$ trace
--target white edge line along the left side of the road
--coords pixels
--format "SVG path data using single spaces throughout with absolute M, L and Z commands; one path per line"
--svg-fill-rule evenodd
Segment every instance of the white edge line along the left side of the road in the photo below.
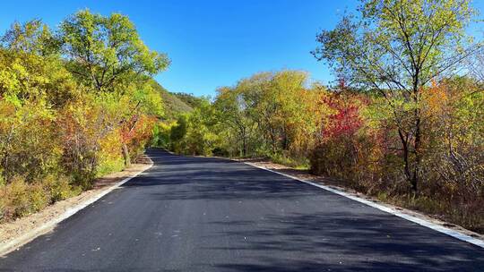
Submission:
M 115 183 L 114 185 L 112 185 L 108 189 L 99 192 L 99 194 L 93 196 L 91 199 L 85 200 L 84 202 L 74 206 L 73 208 L 66 209 L 65 212 L 61 216 L 56 217 L 55 219 L 52 219 L 51 221 L 48 221 L 46 224 L 41 225 L 38 228 L 35 228 L 35 229 L 31 230 L 30 232 L 28 232 L 26 234 L 22 234 L 20 237 L 15 238 L 10 242 L 6 242 L 6 243 L 0 245 L 0 257 L 4 256 L 4 255 L 6 255 L 6 254 L 8 254 L 12 251 L 19 249 L 20 247 L 22 247 L 26 243 L 31 242 L 32 240 L 34 240 L 35 238 L 39 237 L 42 234 L 47 234 L 49 231 L 54 229 L 56 227 L 56 225 L 59 224 L 60 222 L 64 221 L 65 219 L 67 219 L 69 217 L 72 217 L 78 211 L 82 210 L 82 208 L 88 207 L 92 203 L 96 202 L 100 198 L 107 195 L 109 192 L 116 190 L 117 188 L 119 188 L 119 186 L 123 185 L 124 183 L 129 182 L 131 179 L 135 178 L 139 174 L 142 174 L 144 171 L 150 169 L 151 166 L 153 166 L 152 162 L 151 162 L 150 166 L 148 168 L 144 169 L 143 171 L 139 171 L 136 174 L 134 174 L 133 176 L 127 177 L 124 180 L 122 180 L 118 183 Z

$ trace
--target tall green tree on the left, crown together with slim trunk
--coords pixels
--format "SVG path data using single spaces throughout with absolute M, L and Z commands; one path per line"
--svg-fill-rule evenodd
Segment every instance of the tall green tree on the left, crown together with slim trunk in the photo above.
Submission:
M 160 94 L 155 94 L 146 82 L 152 74 L 168 67 L 168 57 L 149 50 L 134 24 L 118 13 L 104 17 L 84 10 L 63 21 L 60 29 L 69 71 L 98 93 L 117 92 L 133 102 L 134 106 L 124 107 L 127 111 L 119 121 L 125 126 L 123 154 L 129 166 L 126 137 L 134 130 L 143 109 L 153 112 L 156 102 L 160 105 Z M 154 109 L 154 113 L 160 114 L 160 110 Z

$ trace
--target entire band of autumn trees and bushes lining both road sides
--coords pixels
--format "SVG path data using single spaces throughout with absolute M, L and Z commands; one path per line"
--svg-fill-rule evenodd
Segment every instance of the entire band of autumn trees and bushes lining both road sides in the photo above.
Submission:
M 0 38 L 0 220 L 119 171 L 146 145 L 268 157 L 484 231 L 482 43 L 468 0 L 366 0 L 317 35 L 307 72 L 259 72 L 215 98 L 169 93 L 169 65 L 121 14 L 74 13 Z M 471 57 L 470 57 L 471 56 Z

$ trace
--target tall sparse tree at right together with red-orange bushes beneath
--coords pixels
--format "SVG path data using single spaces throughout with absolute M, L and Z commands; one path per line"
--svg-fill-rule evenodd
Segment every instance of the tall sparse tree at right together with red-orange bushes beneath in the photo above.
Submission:
M 340 86 L 324 98 L 311 170 L 481 232 L 482 43 L 464 33 L 475 11 L 465 0 L 368 0 L 359 12 L 317 35 L 313 55 Z

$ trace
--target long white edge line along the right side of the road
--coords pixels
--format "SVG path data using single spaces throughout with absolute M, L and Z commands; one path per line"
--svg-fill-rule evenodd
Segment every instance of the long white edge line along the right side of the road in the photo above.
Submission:
M 378 208 L 380 210 L 383 210 L 389 214 L 392 214 L 393 216 L 397 216 L 397 217 L 402 217 L 403 219 L 407 219 L 413 223 L 417 223 L 419 225 L 423 225 L 423 226 L 426 226 L 430 229 L 433 229 L 439 233 L 442 233 L 442 234 L 447 234 L 449 236 L 452 236 L 456 239 L 459 239 L 461 241 L 464 241 L 464 242 L 470 242 L 471 244 L 474 244 L 474 245 L 477 245 L 481 248 L 484 249 L 484 241 L 480 240 L 480 239 L 477 239 L 477 238 L 474 238 L 474 237 L 471 237 L 467 234 L 462 234 L 458 231 L 455 231 L 453 229 L 450 229 L 450 228 L 447 228 L 443 225 L 436 225 L 432 222 L 428 222 L 427 220 L 424 220 L 424 219 L 421 219 L 419 217 L 413 217 L 411 215 L 406 215 L 394 208 L 388 208 L 388 207 L 385 207 L 383 205 L 379 205 L 375 202 L 372 202 L 372 201 L 369 201 L 369 200 L 364 200 L 364 199 L 361 199 L 359 197 L 356 197 L 356 196 L 353 196 L 353 195 L 350 195 L 344 191 L 339 191 L 339 190 L 336 190 L 336 189 L 333 189 L 331 187 L 328 187 L 328 186 L 325 186 L 325 185 L 322 185 L 322 184 L 318 184 L 318 183 L 312 183 L 312 182 L 309 182 L 309 181 L 305 181 L 305 180 L 301 180 L 295 176 L 292 176 L 290 174 L 283 174 L 283 173 L 280 173 L 280 172 L 277 172 L 277 171 L 273 171 L 271 169 L 267 169 L 267 168 L 264 168 L 262 166 L 255 166 L 251 163 L 247 163 L 247 162 L 244 162 L 244 164 L 248 165 L 248 166 L 254 166 L 256 168 L 259 168 L 259 169 L 263 169 L 263 170 L 266 170 L 266 171 L 269 171 L 269 172 L 272 172 L 272 173 L 275 173 L 275 174 L 281 174 L 283 176 L 286 176 L 286 177 L 289 177 L 291 179 L 294 179 L 294 180 L 297 180 L 298 182 L 301 182 L 301 183 L 307 183 L 309 185 L 313 185 L 313 186 L 316 186 L 316 187 L 319 187 L 321 189 L 324 189 L 326 191 L 331 191 L 333 193 L 336 193 L 338 195 L 341 195 L 343 197 L 346 197 L 346 198 L 349 198 L 350 200 L 355 200 L 355 201 L 358 201 L 360 203 L 363 203 L 363 204 L 366 204 L 367 206 L 370 206 L 370 207 L 373 207 L 373 208 Z

